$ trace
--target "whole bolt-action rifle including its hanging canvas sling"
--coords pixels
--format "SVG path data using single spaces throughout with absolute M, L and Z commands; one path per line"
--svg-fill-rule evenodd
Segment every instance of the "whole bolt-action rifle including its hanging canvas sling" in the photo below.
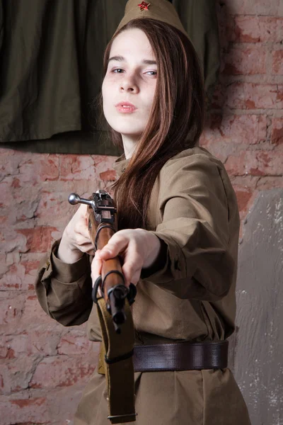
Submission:
M 93 249 L 103 249 L 117 231 L 117 210 L 110 195 L 99 190 L 90 199 L 71 193 L 69 203 L 88 205 L 88 230 Z M 98 288 L 102 297 L 98 297 Z M 102 334 L 104 373 L 108 389 L 108 409 L 111 424 L 136 420 L 134 409 L 134 324 L 130 306 L 137 289 L 125 278 L 119 256 L 103 261 L 101 276 L 93 286 L 92 299 L 97 305 Z M 114 326 L 113 326 L 114 325 Z M 121 325 L 123 334 L 121 334 Z M 121 391 L 121 385 L 123 391 Z

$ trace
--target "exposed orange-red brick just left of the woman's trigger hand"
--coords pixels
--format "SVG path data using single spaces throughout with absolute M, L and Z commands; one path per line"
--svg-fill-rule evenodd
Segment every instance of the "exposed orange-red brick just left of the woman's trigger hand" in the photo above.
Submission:
M 42 226 L 34 229 L 18 229 L 17 232 L 26 237 L 26 246 L 30 252 L 46 252 L 54 241 L 53 232 L 57 232 L 57 228 Z

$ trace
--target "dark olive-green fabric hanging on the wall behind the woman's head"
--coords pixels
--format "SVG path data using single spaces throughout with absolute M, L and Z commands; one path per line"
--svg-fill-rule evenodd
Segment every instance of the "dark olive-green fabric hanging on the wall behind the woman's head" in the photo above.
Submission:
M 103 52 L 124 16 L 126 3 L 2 0 L 0 142 L 4 147 L 30 152 L 121 153 L 110 142 L 98 95 Z M 175 0 L 173 5 L 200 56 L 209 93 L 219 70 L 215 3 Z

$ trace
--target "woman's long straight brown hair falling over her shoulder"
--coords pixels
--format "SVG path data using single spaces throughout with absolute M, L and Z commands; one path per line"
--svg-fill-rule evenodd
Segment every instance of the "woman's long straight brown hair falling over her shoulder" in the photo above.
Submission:
M 149 38 L 158 77 L 149 122 L 127 169 L 112 186 L 119 229 L 146 228 L 149 198 L 159 171 L 175 154 L 196 145 L 204 125 L 204 82 L 192 42 L 155 19 L 129 21 L 115 37 L 131 28 L 139 28 Z M 112 40 L 105 50 L 105 73 Z M 122 148 L 120 133 L 111 129 L 111 136 Z

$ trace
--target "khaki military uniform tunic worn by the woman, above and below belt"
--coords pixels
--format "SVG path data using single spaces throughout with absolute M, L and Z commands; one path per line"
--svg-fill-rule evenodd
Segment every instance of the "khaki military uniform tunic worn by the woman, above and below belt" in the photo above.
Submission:
M 122 174 L 129 160 L 114 164 Z M 143 269 L 133 305 L 137 344 L 172 340 L 219 341 L 234 329 L 239 213 L 224 165 L 202 147 L 185 149 L 164 164 L 149 204 L 149 228 L 166 245 Z M 100 341 L 91 301 L 90 261 L 56 257 L 54 244 L 40 266 L 36 290 L 51 317 L 69 326 L 88 320 L 88 338 Z M 159 261 L 159 263 L 158 263 Z M 135 373 L 137 425 L 250 424 L 229 368 Z M 94 373 L 75 425 L 108 424 L 105 378 Z

